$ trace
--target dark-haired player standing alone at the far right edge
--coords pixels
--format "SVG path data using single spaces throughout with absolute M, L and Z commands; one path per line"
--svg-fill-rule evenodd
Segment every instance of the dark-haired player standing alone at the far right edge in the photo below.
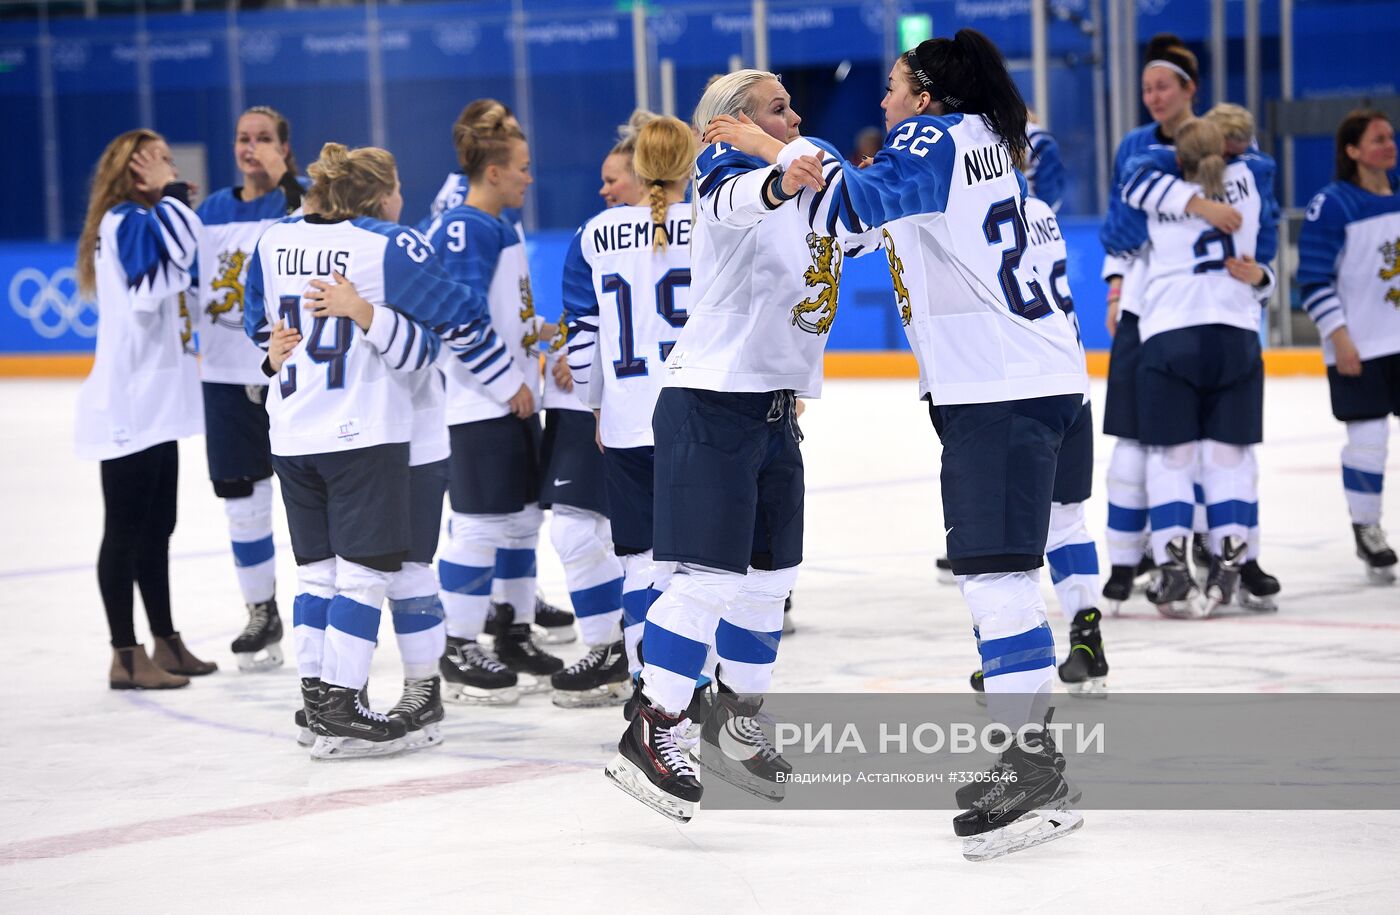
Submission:
M 1303 308 L 1327 360 L 1331 413 L 1347 425 L 1341 484 L 1369 581 L 1396 581 L 1380 529 L 1389 416 L 1400 414 L 1400 193 L 1394 127 L 1355 111 L 1337 127 L 1337 179 L 1312 203 L 1298 241 Z

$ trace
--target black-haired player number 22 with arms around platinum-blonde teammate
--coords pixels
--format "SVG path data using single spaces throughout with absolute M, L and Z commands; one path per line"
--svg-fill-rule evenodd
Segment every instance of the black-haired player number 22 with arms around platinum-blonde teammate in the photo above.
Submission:
M 995 45 L 973 29 L 923 42 L 895 63 L 882 108 L 890 132 L 875 161 L 864 171 L 827 162 L 825 186 L 804 190 L 795 206 L 809 225 L 841 236 L 883 229 L 902 264 L 902 318 L 944 444 L 948 554 L 979 634 L 988 708 L 1029 737 L 997 762 L 1012 778 L 953 821 L 965 856 L 983 859 L 1082 824 L 1065 810 L 1075 795 L 1043 726 L 1054 637 L 1039 567 L 1057 455 L 1088 376 L 1072 326 L 1022 266 L 1026 189 L 1016 165 L 1026 106 Z M 706 139 L 781 168 L 822 155 L 809 141 L 784 146 L 732 118 Z M 1029 830 L 1007 831 L 1032 813 Z

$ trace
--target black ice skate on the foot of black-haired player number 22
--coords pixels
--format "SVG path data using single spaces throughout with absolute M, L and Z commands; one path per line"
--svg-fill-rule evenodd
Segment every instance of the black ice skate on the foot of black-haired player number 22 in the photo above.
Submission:
M 1050 732 L 1025 729 L 1022 735 L 1001 751 L 969 809 L 953 818 L 967 860 L 1001 858 L 1084 825 L 1084 817 L 1068 809 L 1078 792 L 1064 776 L 1064 757 Z M 959 792 L 960 799 L 969 796 Z

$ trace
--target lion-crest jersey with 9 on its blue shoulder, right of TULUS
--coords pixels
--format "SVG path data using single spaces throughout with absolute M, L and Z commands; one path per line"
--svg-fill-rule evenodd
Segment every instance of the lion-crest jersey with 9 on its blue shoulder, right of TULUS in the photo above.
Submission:
M 447 423 L 459 425 L 494 420 L 510 413 L 505 402 L 529 385 L 535 406 L 540 403 L 539 329 L 535 295 L 529 284 L 529 260 L 519 234 L 504 218 L 476 207 L 459 206 L 433 224 L 428 239 L 447 273 L 475 290 L 482 290 L 490 309 L 491 326 L 503 344 L 486 355 L 486 362 L 500 378 L 514 378 L 510 390 L 491 392 L 480 375 L 449 364 L 447 371 Z M 504 393 L 504 396 L 500 396 Z

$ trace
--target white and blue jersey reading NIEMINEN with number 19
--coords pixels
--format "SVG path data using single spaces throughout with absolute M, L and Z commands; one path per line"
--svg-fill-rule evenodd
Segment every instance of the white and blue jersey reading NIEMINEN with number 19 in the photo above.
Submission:
M 601 409 L 605 448 L 652 445 L 662 367 L 690 306 L 689 203 L 666 210 L 665 250 L 652 252 L 651 207 L 613 207 L 584 224 L 564 257 L 568 367 Z

